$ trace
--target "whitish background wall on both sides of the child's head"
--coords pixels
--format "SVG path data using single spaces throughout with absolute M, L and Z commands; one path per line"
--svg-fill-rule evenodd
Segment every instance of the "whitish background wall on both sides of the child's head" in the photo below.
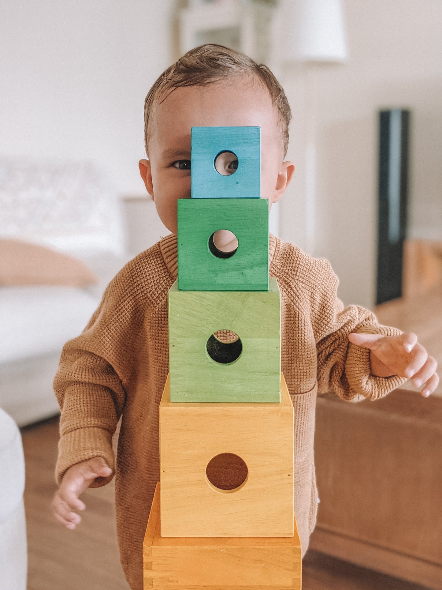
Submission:
M 143 101 L 173 60 L 173 6 L 1 2 L 0 154 L 91 159 L 121 194 L 142 194 Z M 345 11 L 350 60 L 318 74 L 315 254 L 331 261 L 346 303 L 370 306 L 381 107 L 412 110 L 410 228 L 442 234 L 442 1 L 345 0 Z M 304 247 L 305 72 L 286 67 L 281 77 L 297 167 L 281 235 Z

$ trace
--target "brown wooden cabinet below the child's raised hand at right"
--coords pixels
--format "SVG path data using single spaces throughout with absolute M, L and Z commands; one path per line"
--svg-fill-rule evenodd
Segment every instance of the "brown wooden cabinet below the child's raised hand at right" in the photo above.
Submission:
M 404 390 L 359 404 L 318 398 L 316 406 L 318 527 L 342 543 L 349 539 L 345 543 L 352 549 L 346 559 L 438 590 L 441 423 L 440 397 L 424 399 Z M 334 552 L 336 546 L 314 544 L 342 558 Z M 388 568 L 381 568 L 382 560 Z M 431 586 L 434 572 L 441 576 L 440 586 Z

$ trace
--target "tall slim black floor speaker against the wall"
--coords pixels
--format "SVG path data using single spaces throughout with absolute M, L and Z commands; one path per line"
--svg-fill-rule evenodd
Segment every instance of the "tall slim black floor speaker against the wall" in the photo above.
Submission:
M 402 295 L 402 256 L 407 227 L 410 112 L 379 113 L 379 213 L 376 303 Z

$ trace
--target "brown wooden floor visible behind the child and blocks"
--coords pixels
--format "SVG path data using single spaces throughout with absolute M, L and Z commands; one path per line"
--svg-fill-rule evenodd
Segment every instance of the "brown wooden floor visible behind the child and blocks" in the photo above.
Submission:
M 87 490 L 76 530 L 52 516 L 58 419 L 22 430 L 27 483 L 28 590 L 127 590 L 118 558 L 113 487 Z M 322 553 L 304 559 L 303 590 L 425 590 Z

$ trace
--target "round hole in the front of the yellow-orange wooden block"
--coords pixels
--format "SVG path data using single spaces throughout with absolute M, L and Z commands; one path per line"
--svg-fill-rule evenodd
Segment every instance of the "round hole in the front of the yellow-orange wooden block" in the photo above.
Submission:
M 235 491 L 247 481 L 249 470 L 245 461 L 235 453 L 220 453 L 207 463 L 206 478 L 221 491 Z

